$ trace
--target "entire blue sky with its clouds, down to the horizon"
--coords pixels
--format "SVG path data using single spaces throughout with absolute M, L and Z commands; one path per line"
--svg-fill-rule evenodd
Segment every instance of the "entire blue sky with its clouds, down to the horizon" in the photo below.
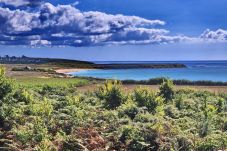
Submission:
M 0 55 L 227 60 L 226 0 L 0 0 Z

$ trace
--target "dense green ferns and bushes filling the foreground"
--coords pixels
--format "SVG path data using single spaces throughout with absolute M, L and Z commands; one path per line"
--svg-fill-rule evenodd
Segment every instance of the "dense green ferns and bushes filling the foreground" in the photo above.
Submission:
M 61 80 L 59 79 L 59 82 Z M 94 92 L 75 85 L 14 84 L 0 70 L 0 150 L 227 149 L 227 95 L 107 81 Z

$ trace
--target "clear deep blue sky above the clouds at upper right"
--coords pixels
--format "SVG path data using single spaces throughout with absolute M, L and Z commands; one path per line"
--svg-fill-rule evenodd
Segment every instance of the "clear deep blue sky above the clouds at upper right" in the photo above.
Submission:
M 54 4 L 73 3 L 74 0 L 50 0 Z M 160 19 L 173 33 L 200 35 L 205 29 L 227 27 L 226 0 L 81 0 L 77 6 L 83 11 L 136 15 Z

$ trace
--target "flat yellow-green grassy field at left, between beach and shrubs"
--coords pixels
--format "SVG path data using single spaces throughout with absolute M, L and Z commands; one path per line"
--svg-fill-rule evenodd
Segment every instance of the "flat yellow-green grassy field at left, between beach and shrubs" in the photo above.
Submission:
M 47 65 L 47 64 L 33 64 L 33 65 L 21 65 L 21 64 L 7 64 L 4 65 L 6 69 L 6 75 L 14 79 L 16 85 L 22 85 L 24 87 L 42 87 L 44 85 L 49 85 L 53 87 L 66 87 L 66 86 L 84 86 L 91 84 L 94 80 L 86 78 L 66 78 L 61 75 L 55 75 L 54 73 L 41 71 L 12 71 L 13 68 L 24 68 L 26 66 L 32 69 L 45 69 L 54 70 L 59 68 L 59 66 Z

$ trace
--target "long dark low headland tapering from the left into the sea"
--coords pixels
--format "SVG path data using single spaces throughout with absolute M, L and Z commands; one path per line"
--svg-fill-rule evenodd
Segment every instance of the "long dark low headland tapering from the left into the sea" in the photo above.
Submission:
M 185 68 L 184 64 L 95 64 L 88 61 L 78 61 L 58 58 L 33 57 L 0 57 L 0 64 L 36 64 L 55 66 L 58 68 L 86 68 L 86 69 L 136 69 L 136 68 Z

